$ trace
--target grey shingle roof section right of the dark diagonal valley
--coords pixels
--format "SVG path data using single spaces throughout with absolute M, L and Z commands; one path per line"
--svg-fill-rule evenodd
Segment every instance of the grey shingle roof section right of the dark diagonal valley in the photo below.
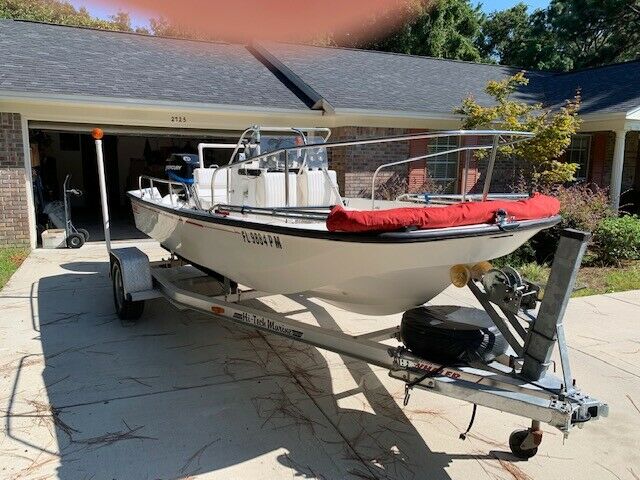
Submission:
M 487 81 L 517 72 L 496 65 L 365 50 L 265 47 L 337 109 L 450 114 L 469 94 L 488 103 L 483 92 Z

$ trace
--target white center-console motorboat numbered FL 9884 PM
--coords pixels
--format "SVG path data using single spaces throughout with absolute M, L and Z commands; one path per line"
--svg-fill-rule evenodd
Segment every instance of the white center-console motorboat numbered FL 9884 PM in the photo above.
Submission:
M 416 196 L 375 200 L 375 188 L 370 199 L 343 198 L 336 173 L 328 169 L 327 151 L 333 148 L 442 136 L 493 138 L 376 171 L 452 151 L 486 149 L 491 154 L 480 200 L 493 205 L 497 200 L 488 195 L 488 187 L 498 146 L 530 134 L 430 132 L 334 143 L 327 141 L 329 135 L 327 129 L 251 127 L 236 144 L 201 144 L 197 157 L 184 155 L 170 162 L 168 180 L 141 177 L 139 189 L 128 192 L 136 227 L 194 266 L 238 284 L 274 294 L 304 292 L 346 310 L 382 315 L 438 295 L 451 283 L 452 266 L 507 255 L 559 221 L 555 214 L 514 221 L 506 208 L 506 214 L 497 211 L 495 219 L 471 225 L 331 231 L 327 217 L 335 205 L 348 212 L 397 207 L 423 212 L 475 200 L 468 195 L 430 196 L 428 204 L 416 203 Z M 231 149 L 229 164 L 206 168 L 204 152 L 209 148 Z M 192 177 L 188 167 L 194 163 Z

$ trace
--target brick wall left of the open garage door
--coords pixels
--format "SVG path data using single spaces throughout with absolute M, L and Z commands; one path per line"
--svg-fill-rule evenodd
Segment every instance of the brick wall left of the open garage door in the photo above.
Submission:
M 29 244 L 22 123 L 0 112 L 0 246 Z

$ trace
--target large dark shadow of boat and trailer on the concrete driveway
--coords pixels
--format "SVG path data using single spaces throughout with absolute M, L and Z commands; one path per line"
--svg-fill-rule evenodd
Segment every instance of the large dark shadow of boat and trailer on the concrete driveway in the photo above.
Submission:
M 342 365 L 337 355 L 162 299 L 124 326 L 107 262 L 63 267 L 69 273 L 42 278 L 33 292 L 48 404 L 26 400 L 34 418 L 51 415 L 61 479 L 172 479 L 229 469 L 219 476 L 440 480 L 450 478 L 445 467 L 454 458 L 484 458 L 432 452 L 368 364 L 345 357 Z M 321 326 L 339 328 L 312 300 L 289 300 Z M 336 359 L 331 370 L 327 358 Z M 336 375 L 353 387 L 334 395 Z M 12 428 L 19 382 L 20 373 L 7 432 L 46 450 Z M 341 408 L 343 400 L 362 406 Z

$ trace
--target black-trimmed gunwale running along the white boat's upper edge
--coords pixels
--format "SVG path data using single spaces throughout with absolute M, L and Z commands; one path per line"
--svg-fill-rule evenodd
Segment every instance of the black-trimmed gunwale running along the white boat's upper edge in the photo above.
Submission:
M 501 228 L 497 224 L 477 224 L 460 227 L 448 227 L 438 229 L 423 229 L 394 232 L 330 232 L 328 230 L 314 230 L 308 228 L 296 228 L 295 226 L 274 225 L 271 223 L 253 222 L 251 220 L 236 219 L 227 215 L 220 215 L 212 212 L 201 212 L 197 210 L 186 210 L 161 205 L 156 202 L 145 200 L 132 192 L 127 192 L 127 196 L 132 202 L 139 202 L 152 209 L 159 209 L 162 212 L 170 213 L 178 217 L 186 217 L 192 220 L 200 220 L 205 223 L 226 225 L 247 230 L 263 231 L 271 234 L 288 235 L 295 237 L 315 238 L 318 240 L 331 240 L 338 242 L 356 243 L 416 243 L 433 242 L 439 240 L 450 240 L 454 238 L 467 237 L 494 237 L 511 235 L 523 230 L 540 230 L 549 228 L 560 222 L 560 215 L 545 217 L 536 220 L 523 220 L 509 225 L 509 228 Z M 456 229 L 456 230 L 454 230 Z

